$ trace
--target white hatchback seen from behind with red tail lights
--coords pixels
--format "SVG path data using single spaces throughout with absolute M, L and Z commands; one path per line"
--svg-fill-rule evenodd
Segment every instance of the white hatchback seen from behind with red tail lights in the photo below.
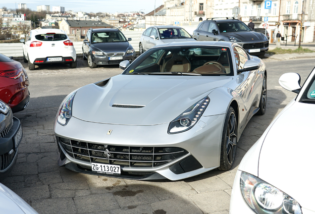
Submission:
M 77 67 L 73 43 L 62 30 L 31 30 L 20 42 L 24 44 L 23 59 L 30 70 L 34 70 L 36 64 L 49 63 L 70 63 L 71 68 Z

